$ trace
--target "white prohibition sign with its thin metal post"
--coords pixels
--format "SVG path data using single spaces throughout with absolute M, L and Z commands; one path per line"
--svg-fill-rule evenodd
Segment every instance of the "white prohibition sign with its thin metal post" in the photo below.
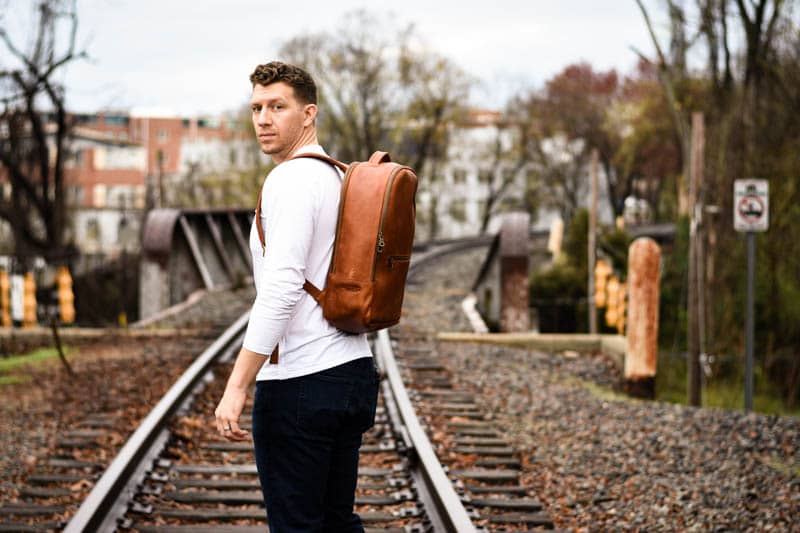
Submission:
M 756 233 L 769 228 L 769 182 L 735 180 L 733 184 L 733 227 L 747 234 L 747 299 L 745 309 L 744 409 L 753 409 L 753 344 L 755 336 Z

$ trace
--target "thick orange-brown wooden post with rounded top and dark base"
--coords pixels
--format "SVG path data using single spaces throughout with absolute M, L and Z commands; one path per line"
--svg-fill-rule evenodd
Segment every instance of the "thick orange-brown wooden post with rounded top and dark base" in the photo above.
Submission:
M 633 241 L 628 251 L 628 353 L 625 390 L 640 398 L 655 397 L 658 359 L 658 299 L 661 250 L 650 238 Z

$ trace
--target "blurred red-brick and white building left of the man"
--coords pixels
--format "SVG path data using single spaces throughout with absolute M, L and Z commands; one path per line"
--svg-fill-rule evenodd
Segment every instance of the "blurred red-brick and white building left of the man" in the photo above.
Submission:
M 66 201 L 84 253 L 138 250 L 148 194 L 151 205 L 175 205 L 175 184 L 249 168 L 257 156 L 250 136 L 224 118 L 109 111 L 72 118 Z

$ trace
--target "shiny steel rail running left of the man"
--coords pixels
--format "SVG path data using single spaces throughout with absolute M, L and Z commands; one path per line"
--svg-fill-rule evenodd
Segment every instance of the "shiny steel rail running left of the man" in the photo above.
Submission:
M 249 315 L 249 311 L 244 313 L 217 337 L 150 411 L 78 508 L 64 529 L 65 533 L 111 532 L 117 528 L 130 497 L 136 492 L 136 485 L 166 442 L 170 418 L 211 365 L 221 355 L 237 348 L 236 341 L 243 334 Z

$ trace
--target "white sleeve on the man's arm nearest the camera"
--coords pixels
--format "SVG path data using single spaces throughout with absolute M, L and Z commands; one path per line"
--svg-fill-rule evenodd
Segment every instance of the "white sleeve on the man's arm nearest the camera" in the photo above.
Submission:
M 275 349 L 304 294 L 318 211 L 317 188 L 310 179 L 315 167 L 313 161 L 283 163 L 264 185 L 261 223 L 266 252 L 260 272 L 255 273 L 256 299 L 243 346 L 265 356 Z

